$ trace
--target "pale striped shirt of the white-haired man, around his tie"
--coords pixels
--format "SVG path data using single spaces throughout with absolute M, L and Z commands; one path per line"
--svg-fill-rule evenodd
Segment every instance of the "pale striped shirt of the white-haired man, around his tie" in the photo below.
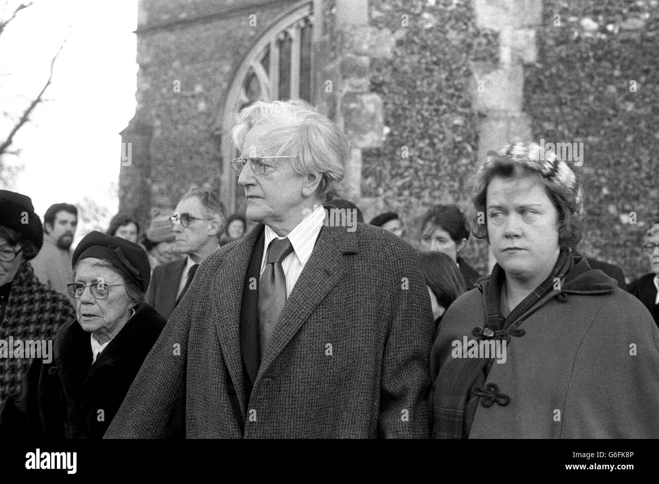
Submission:
M 325 221 L 325 209 L 322 205 L 316 207 L 312 213 L 304 217 L 302 221 L 291 230 L 291 233 L 287 235 L 288 239 L 291 241 L 293 246 L 293 252 L 284 257 L 281 261 L 281 268 L 284 271 L 284 276 L 286 277 L 286 297 L 291 295 L 293 286 L 295 282 L 300 277 L 304 265 L 311 257 L 311 252 L 314 250 L 314 245 L 316 245 L 316 238 L 320 233 L 320 229 L 323 226 Z M 261 274 L 266 269 L 266 257 L 268 255 L 268 246 L 274 238 L 285 238 L 279 237 L 277 232 L 270 229 L 266 225 L 265 232 L 265 246 L 263 250 L 263 258 L 261 259 Z

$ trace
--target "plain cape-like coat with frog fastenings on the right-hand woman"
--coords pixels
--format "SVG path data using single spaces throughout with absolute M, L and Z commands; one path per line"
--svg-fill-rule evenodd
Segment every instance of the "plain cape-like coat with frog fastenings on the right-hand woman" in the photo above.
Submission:
M 435 404 L 455 341 L 473 340 L 474 327 L 485 326 L 488 284 L 463 294 L 442 320 L 430 359 Z M 509 401 L 481 398 L 470 439 L 659 437 L 659 330 L 614 279 L 575 257 L 561 287 L 519 328 L 485 382 Z

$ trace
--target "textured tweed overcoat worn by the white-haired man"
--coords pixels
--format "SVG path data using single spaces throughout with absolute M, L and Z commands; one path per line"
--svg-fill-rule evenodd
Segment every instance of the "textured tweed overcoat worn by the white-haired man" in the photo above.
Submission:
M 428 437 L 418 257 L 363 223 L 323 228 L 246 396 L 241 301 L 263 230 L 200 265 L 105 437 Z

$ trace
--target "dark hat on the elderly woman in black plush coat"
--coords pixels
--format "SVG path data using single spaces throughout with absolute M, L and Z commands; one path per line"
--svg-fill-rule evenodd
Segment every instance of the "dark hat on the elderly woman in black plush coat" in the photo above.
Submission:
M 151 264 L 144 249 L 137 244 L 94 230 L 84 236 L 73 251 L 72 265 L 87 257 L 106 259 L 143 292 L 149 287 Z

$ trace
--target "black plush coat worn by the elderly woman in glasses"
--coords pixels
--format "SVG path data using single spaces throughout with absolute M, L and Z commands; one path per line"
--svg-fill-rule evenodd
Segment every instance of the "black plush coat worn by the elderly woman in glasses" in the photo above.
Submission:
M 50 363 L 33 360 L 22 394 L 0 412 L 0 439 L 100 439 L 119 410 L 165 319 L 148 304 L 135 314 L 92 363 L 90 333 L 73 319 L 55 335 Z

